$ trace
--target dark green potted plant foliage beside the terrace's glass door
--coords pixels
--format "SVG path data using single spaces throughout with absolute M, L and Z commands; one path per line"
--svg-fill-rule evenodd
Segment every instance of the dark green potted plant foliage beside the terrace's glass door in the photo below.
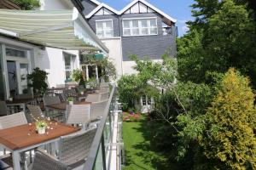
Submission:
M 37 95 L 44 95 L 48 88 L 46 71 L 41 71 L 38 67 L 33 69 L 32 74 L 27 75 L 27 79 L 32 83 L 29 83 L 28 86 L 33 88 L 33 93 Z

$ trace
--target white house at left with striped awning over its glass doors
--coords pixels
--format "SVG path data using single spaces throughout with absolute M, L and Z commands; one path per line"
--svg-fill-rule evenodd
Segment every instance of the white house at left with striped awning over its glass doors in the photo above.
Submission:
M 42 0 L 37 11 L 0 10 L 0 99 L 30 94 L 26 75 L 33 68 L 49 73 L 51 88 L 65 84 L 80 68 L 81 49 L 93 47 L 108 54 L 79 13 L 78 3 Z

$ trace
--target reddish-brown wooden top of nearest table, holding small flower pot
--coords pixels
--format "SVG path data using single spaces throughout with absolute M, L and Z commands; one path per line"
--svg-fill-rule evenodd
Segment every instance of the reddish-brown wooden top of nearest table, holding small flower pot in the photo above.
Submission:
M 38 134 L 34 123 L 0 130 L 0 144 L 5 145 L 10 150 L 19 150 L 80 130 L 78 127 L 67 126 L 60 122 L 48 122 L 48 126 L 53 129 L 47 129 L 46 132 L 48 133 L 45 134 Z

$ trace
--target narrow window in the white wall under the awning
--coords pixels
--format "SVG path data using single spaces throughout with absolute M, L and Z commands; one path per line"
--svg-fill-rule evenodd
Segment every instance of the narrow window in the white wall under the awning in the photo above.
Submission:
M 66 82 L 72 81 L 72 71 L 74 69 L 74 60 L 75 55 L 72 54 L 64 54 L 65 59 L 65 76 L 66 76 Z

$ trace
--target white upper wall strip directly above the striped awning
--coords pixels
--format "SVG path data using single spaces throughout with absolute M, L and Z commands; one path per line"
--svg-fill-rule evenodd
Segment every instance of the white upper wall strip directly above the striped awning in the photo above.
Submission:
M 72 3 L 67 0 L 40 0 L 40 10 L 72 9 Z

